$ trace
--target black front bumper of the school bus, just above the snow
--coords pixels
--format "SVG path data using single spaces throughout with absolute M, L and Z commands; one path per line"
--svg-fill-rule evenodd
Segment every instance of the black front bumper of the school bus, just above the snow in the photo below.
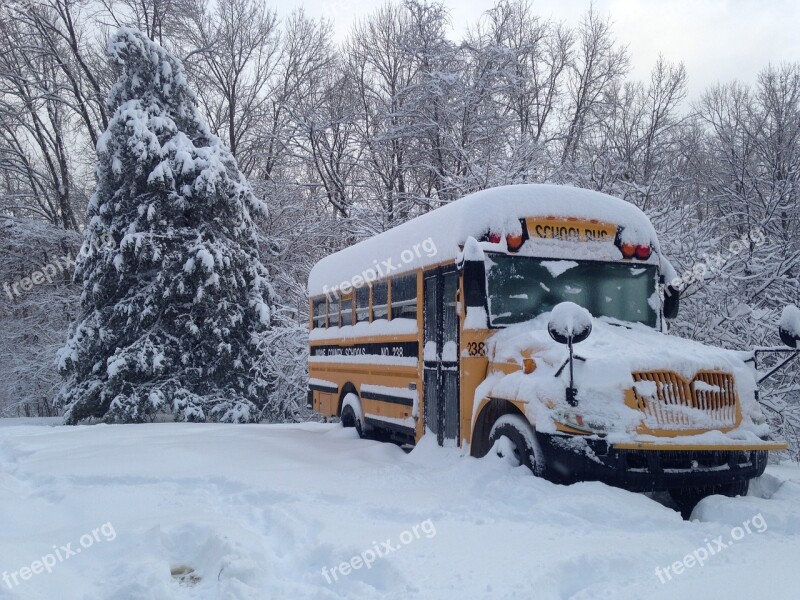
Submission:
M 761 446 L 704 449 L 657 444 L 612 445 L 602 439 L 536 432 L 544 476 L 556 483 L 601 481 L 635 492 L 724 485 L 760 476 Z M 758 449 L 756 449 L 758 448 Z

